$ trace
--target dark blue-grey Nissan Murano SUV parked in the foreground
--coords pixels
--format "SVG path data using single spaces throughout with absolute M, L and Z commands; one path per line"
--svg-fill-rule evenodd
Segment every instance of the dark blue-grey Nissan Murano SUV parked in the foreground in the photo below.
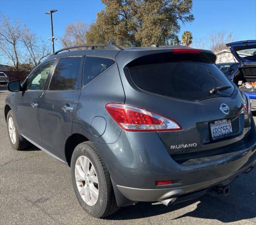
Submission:
M 215 60 L 185 46 L 57 51 L 8 83 L 10 145 L 32 143 L 71 166 L 75 195 L 96 218 L 227 195 L 256 163 L 256 126 L 249 98 Z

